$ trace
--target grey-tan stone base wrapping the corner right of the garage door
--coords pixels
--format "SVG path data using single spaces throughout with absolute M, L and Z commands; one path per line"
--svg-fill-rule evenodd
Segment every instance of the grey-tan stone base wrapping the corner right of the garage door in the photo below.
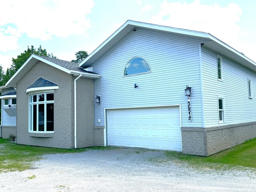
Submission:
M 256 138 L 256 122 L 209 128 L 182 127 L 182 153 L 209 156 Z

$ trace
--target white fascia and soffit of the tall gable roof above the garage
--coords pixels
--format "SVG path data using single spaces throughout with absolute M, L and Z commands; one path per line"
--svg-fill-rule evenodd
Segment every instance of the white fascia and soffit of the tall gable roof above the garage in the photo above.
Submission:
M 124 38 L 129 32 L 134 30 L 134 28 L 146 28 L 150 30 L 158 30 L 162 32 L 168 32 L 173 34 L 186 35 L 196 38 L 201 38 L 203 40 L 208 40 L 204 42 L 204 46 L 219 52 L 244 66 L 256 72 L 256 63 L 253 62 L 248 57 L 244 56 L 242 53 L 238 52 L 234 48 L 228 46 L 218 38 L 212 36 L 209 33 L 186 30 L 180 28 L 173 28 L 168 26 L 161 26 L 156 24 L 149 24 L 143 22 L 137 22 L 128 20 L 126 21 L 116 32 L 114 32 L 108 39 L 106 39 L 98 48 L 96 48 L 85 60 L 83 60 L 79 66 L 88 67 L 98 60 L 102 55 L 104 55 L 108 50 L 110 50 L 114 45 L 116 45 L 122 38 Z

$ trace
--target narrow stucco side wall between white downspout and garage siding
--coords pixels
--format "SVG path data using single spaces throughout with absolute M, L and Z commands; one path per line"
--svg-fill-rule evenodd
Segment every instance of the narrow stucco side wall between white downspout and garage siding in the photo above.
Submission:
M 77 77 L 74 77 L 77 78 Z M 77 148 L 94 145 L 94 80 L 80 78 L 76 82 Z

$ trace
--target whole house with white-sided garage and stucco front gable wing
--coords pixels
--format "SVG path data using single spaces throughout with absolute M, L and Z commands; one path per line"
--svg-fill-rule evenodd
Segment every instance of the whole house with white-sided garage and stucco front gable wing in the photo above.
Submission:
M 211 34 L 128 20 L 79 66 L 32 55 L 6 86 L 20 144 L 208 156 L 256 137 L 255 82 Z

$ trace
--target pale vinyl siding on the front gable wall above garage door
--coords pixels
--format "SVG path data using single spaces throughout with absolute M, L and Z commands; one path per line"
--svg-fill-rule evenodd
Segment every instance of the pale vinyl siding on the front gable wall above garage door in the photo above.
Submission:
M 202 126 L 199 44 L 203 40 L 142 28 L 131 31 L 93 64 L 95 125 L 104 125 L 104 108 L 181 104 L 182 126 Z M 133 57 L 144 58 L 151 73 L 123 77 Z M 134 84 L 138 88 L 134 88 Z M 188 121 L 186 85 L 192 87 L 192 122 Z M 98 123 L 100 119 L 100 123 Z

